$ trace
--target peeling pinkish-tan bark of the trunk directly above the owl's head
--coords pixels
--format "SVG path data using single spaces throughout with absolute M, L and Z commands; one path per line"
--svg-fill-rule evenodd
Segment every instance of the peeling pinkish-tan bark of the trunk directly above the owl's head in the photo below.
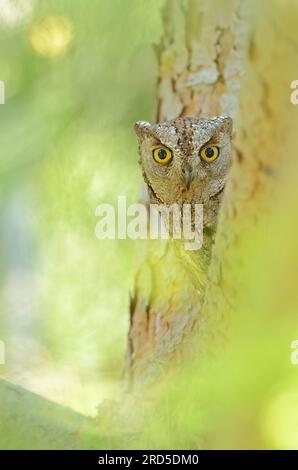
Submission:
M 248 21 L 244 2 L 168 2 L 157 48 L 157 121 L 236 116 Z

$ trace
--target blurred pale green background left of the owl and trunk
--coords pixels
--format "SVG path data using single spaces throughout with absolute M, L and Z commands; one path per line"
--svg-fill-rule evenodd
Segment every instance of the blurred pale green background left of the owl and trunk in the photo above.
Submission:
M 133 275 L 95 209 L 138 197 L 161 4 L 0 0 L 0 374 L 91 415 L 118 389 Z

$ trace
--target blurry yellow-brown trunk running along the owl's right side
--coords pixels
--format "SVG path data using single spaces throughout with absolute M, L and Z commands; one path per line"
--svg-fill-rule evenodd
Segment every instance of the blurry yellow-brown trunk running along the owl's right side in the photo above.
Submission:
M 251 34 L 236 120 L 235 155 L 225 190 L 200 319 L 201 353 L 230 335 L 250 259 L 241 246 L 274 211 L 290 168 L 297 125 L 290 83 L 297 76 L 295 2 L 252 2 Z M 294 60 L 296 58 L 296 60 Z M 294 156 L 293 156 L 294 157 Z M 289 175 L 287 175 L 289 177 Z M 288 181 L 290 184 L 290 181 Z M 263 227 L 264 230 L 264 227 Z M 243 300 L 243 299 L 242 299 Z

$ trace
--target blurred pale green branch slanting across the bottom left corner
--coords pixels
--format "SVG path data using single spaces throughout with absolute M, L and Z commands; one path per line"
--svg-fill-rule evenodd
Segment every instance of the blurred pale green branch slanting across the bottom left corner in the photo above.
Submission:
M 2 449 L 95 448 L 98 440 L 94 419 L 2 379 L 0 422 Z

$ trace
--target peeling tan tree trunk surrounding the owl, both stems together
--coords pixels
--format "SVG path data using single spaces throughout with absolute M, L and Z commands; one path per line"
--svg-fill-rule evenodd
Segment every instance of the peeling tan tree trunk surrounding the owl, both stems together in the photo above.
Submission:
M 294 69 L 295 41 L 291 46 L 282 25 L 279 33 L 276 26 L 289 12 L 278 2 L 259 3 L 250 2 L 249 12 L 241 0 L 165 5 L 164 37 L 156 48 L 157 121 L 229 115 L 235 150 L 212 250 L 205 246 L 195 258 L 166 242 L 148 241 L 144 249 L 125 370 L 133 390 L 154 381 L 170 361 L 191 356 L 197 344 L 199 352 L 213 349 L 228 334 L 241 279 L 235 241 L 268 203 L 291 116 L 281 109 L 294 75 L 287 83 L 282 71 Z

